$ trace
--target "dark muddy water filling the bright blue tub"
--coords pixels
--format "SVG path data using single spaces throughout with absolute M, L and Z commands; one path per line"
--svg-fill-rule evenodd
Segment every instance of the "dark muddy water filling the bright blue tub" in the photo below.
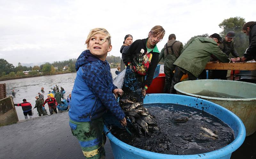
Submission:
M 133 135 L 113 126 L 111 133 L 119 140 L 144 150 L 188 155 L 214 151 L 234 140 L 233 130 L 217 117 L 202 110 L 178 104 L 144 104 L 154 117 L 159 132 L 151 137 Z M 177 117 L 188 117 L 187 122 L 176 122 Z

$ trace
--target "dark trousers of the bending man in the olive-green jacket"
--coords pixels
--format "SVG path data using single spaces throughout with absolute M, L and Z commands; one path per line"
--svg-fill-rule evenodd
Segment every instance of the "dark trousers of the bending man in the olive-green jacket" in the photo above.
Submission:
M 171 85 L 171 94 L 176 94 L 176 90 L 174 89 L 174 85 L 180 82 L 181 77 L 186 73 L 188 73 L 188 80 L 196 80 L 196 76 L 194 76 L 192 73 L 188 72 L 187 70 L 184 70 L 182 68 L 176 66 L 174 76 L 172 78 L 172 85 Z

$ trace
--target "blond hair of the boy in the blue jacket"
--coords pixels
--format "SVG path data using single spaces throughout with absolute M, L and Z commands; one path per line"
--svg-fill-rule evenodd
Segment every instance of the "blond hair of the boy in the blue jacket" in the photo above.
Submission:
M 87 44 L 87 47 L 89 47 L 89 41 L 90 41 L 91 37 L 94 36 L 95 34 L 104 34 L 104 35 L 106 35 L 106 37 L 104 38 L 104 40 L 100 44 L 102 44 L 103 42 L 106 42 L 106 40 L 108 40 L 108 46 L 111 45 L 111 36 L 108 33 L 108 31 L 104 28 L 96 27 L 96 28 L 90 30 L 90 33 L 87 36 L 87 39 L 85 41 L 85 44 Z

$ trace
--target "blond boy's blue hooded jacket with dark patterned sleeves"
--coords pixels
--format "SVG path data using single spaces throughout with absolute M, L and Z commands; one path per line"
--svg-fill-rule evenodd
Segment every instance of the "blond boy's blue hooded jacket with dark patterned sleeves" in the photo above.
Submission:
M 69 117 L 78 122 L 100 118 L 107 110 L 119 120 L 124 112 L 116 102 L 112 74 L 108 62 L 85 50 L 76 60 L 76 80 L 72 90 Z

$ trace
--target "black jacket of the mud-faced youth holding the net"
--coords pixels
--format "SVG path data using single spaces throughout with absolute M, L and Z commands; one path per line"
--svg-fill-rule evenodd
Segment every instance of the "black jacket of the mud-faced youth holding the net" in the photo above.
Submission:
M 124 64 L 128 65 L 128 63 L 132 63 L 134 57 L 137 58 L 137 56 L 140 54 L 140 50 L 144 49 L 147 50 L 146 43 L 147 39 L 139 39 L 133 42 L 126 50 L 125 52 L 122 53 L 122 59 Z M 153 50 L 150 52 L 152 53 L 152 59 L 151 63 L 149 64 L 148 72 L 147 72 L 147 78 L 144 81 L 143 85 L 148 85 L 150 86 L 153 77 L 154 77 L 154 72 L 156 70 L 156 66 L 158 64 L 158 57 L 159 57 L 159 51 L 158 52 L 153 52 Z M 140 76 L 140 75 L 138 75 Z

